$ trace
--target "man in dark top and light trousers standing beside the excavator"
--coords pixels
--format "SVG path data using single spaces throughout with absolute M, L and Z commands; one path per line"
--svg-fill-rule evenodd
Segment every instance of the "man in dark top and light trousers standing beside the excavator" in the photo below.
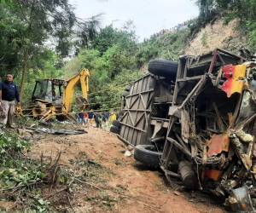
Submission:
M 0 83 L 0 104 L 5 115 L 5 118 L 0 118 L 0 123 L 10 128 L 14 128 L 15 100 L 18 103 L 20 102 L 19 91 L 14 83 L 14 76 L 7 74 L 6 80 Z

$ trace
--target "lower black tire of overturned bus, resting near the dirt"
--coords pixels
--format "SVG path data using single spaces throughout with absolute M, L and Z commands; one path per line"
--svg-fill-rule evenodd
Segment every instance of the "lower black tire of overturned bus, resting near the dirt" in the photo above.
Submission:
M 151 168 L 159 168 L 162 153 L 155 150 L 154 145 L 137 145 L 134 149 L 134 158 Z

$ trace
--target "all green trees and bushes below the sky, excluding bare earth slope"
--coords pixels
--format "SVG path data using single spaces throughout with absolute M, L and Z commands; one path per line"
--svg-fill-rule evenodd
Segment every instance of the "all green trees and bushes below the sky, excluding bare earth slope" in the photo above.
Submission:
M 200 9 L 197 19 L 187 21 L 180 29 L 162 31 L 139 43 L 131 22 L 122 29 L 113 26 L 99 29 L 99 16 L 79 20 L 68 0 L 1 1 L 0 76 L 7 72 L 15 74 L 22 100 L 26 102 L 36 78 L 68 78 L 81 67 L 86 67 L 91 72 L 90 102 L 106 102 L 118 100 L 125 86 L 116 85 L 143 75 L 148 60 L 177 60 L 191 37 L 220 16 L 226 21 L 240 20 L 241 33 L 247 36 L 245 47 L 256 49 L 255 1 L 196 2 Z M 77 56 L 64 63 L 63 59 L 71 50 Z M 109 87 L 116 90 L 106 92 L 106 97 L 102 98 L 101 93 L 96 94 Z M 115 106 L 112 103 L 94 108 Z

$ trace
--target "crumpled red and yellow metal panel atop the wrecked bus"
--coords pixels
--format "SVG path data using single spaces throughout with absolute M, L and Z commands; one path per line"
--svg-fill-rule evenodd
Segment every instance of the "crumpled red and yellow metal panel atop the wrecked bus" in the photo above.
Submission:
M 234 93 L 241 93 L 244 85 L 244 78 L 247 71 L 246 65 L 226 65 L 222 67 L 224 78 L 227 80 L 221 89 L 230 97 Z

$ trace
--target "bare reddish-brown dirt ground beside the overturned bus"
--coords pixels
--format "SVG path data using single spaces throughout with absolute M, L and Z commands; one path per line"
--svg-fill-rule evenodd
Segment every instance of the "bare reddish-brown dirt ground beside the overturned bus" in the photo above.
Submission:
M 84 158 L 100 165 L 96 170 L 87 167 L 83 179 L 87 181 L 80 181 L 82 187 L 75 185 L 68 199 L 71 208 L 66 211 L 224 212 L 206 194 L 171 187 L 160 170 L 148 170 L 132 156 L 125 157 L 125 150 L 116 135 L 90 127 L 84 135 L 39 135 L 31 156 L 39 158 L 43 153 L 50 157 L 61 151 L 61 167 L 79 171 L 79 176 L 85 170 L 81 164 Z M 88 175 L 90 172 L 94 175 Z

